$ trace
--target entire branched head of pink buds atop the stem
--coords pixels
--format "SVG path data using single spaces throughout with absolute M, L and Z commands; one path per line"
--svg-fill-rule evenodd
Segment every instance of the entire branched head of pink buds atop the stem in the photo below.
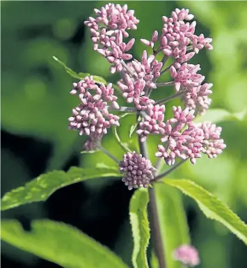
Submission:
M 212 123 L 193 123 L 197 114 L 209 109 L 212 84 L 198 73 L 200 65 L 188 61 L 205 48 L 213 49 L 211 38 L 196 35 L 196 22 L 188 9 L 176 8 L 170 17 L 162 17 L 161 33 L 154 31 L 151 40 L 141 39 L 152 48 L 148 55 L 143 51 L 141 59 L 134 58 L 131 49 L 134 38 L 129 39 L 129 30 L 136 30 L 138 19 L 127 5 L 106 4 L 95 9 L 95 17 L 89 17 L 85 25 L 90 29 L 93 48 L 111 63 L 111 73 L 119 72 L 118 86 L 127 105 L 119 107 L 112 84 L 97 84 L 93 77 L 85 77 L 73 84 L 72 94 L 79 96 L 80 104 L 72 110 L 69 127 L 79 134 L 88 135 L 84 148 L 95 150 L 102 136 L 111 126 L 118 126 L 119 117 L 111 111 L 132 111 L 141 116 L 136 133 L 144 143 L 149 135 L 160 135 L 156 157 L 164 158 L 173 165 L 177 159 L 190 159 L 192 164 L 202 154 L 217 157 L 225 148 L 221 139 L 221 127 Z M 157 60 L 157 54 L 163 57 Z M 169 63 L 166 66 L 166 63 Z M 171 81 L 159 82 L 165 72 L 170 72 Z M 174 95 L 161 100 L 152 98 L 152 91 L 159 87 L 173 86 Z M 166 102 L 180 97 L 184 106 L 173 107 L 173 118 L 165 120 Z M 140 143 L 140 145 L 141 145 Z M 155 169 L 145 155 L 127 152 L 119 164 L 125 173 L 122 180 L 129 189 L 148 187 L 154 179 Z

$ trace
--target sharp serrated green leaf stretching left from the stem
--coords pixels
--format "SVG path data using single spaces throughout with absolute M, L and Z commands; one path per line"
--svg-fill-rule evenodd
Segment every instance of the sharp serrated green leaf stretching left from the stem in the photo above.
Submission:
M 9 210 L 19 205 L 45 201 L 54 191 L 77 182 L 83 182 L 93 178 L 119 177 L 120 174 L 115 169 L 108 168 L 70 168 L 65 171 L 51 171 L 42 174 L 26 183 L 23 187 L 18 187 L 6 193 L 1 198 L 1 210 Z

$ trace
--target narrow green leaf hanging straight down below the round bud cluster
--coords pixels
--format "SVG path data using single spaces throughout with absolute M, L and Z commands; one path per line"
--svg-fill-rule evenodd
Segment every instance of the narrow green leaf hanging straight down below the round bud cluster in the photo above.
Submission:
M 134 268 L 148 268 L 146 255 L 150 239 L 147 212 L 148 201 L 148 189 L 142 188 L 136 190 L 130 200 L 129 217 L 134 239 L 134 249 L 132 253 L 132 263 Z

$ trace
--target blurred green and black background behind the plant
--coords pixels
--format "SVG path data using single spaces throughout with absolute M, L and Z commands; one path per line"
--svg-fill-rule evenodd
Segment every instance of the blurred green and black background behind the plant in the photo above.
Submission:
M 116 82 L 109 63 L 93 51 L 83 21 L 106 2 L 99 1 L 1 1 L 1 196 L 40 173 L 70 166 L 114 164 L 101 153 L 80 155 L 84 139 L 67 130 L 67 118 L 77 105 L 69 94 L 74 79 L 52 56 L 76 72 L 89 72 Z M 124 2 L 119 1 L 123 4 Z M 203 49 L 193 58 L 214 84 L 212 108 L 238 113 L 247 107 L 247 2 L 246 1 L 128 1 L 140 19 L 133 53 L 140 58 L 144 45 L 138 40 L 161 31 L 161 16 L 189 8 L 198 22 L 196 33 L 213 38 L 214 50 Z M 166 77 L 165 77 L 166 78 Z M 171 89 L 172 90 L 172 89 Z M 172 91 L 157 90 L 159 98 Z M 179 104 L 175 101 L 169 103 Z M 169 112 L 168 112 L 169 115 Z M 128 141 L 134 118 L 122 120 L 120 137 Z M 247 221 L 247 120 L 226 120 L 223 139 L 227 148 L 217 159 L 206 157 L 196 165 L 186 163 L 173 178 L 198 182 L 227 203 Z M 122 150 L 111 133 L 103 145 L 119 159 Z M 150 145 L 154 152 L 156 145 Z M 136 147 L 133 136 L 131 147 Z M 122 182 L 93 180 L 57 191 L 46 203 L 24 205 L 1 214 L 27 225 L 48 217 L 70 223 L 106 244 L 130 263 L 132 240 L 128 203 L 132 192 Z M 223 226 L 205 219 L 189 198 L 184 198 L 193 244 L 203 268 L 246 268 L 246 246 Z M 2 265 L 9 267 L 58 267 L 2 243 Z

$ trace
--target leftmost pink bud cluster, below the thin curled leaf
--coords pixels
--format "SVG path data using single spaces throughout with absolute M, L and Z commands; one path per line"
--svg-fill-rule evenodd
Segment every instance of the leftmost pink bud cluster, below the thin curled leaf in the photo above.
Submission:
M 90 139 L 101 139 L 111 125 L 119 126 L 118 116 L 109 113 L 106 107 L 107 102 L 110 102 L 113 107 L 119 108 L 112 84 L 101 84 L 99 87 L 93 77 L 85 77 L 79 83 L 73 84 L 70 93 L 78 94 L 81 102 L 72 110 L 70 129 L 79 131 L 79 135 L 86 134 Z

